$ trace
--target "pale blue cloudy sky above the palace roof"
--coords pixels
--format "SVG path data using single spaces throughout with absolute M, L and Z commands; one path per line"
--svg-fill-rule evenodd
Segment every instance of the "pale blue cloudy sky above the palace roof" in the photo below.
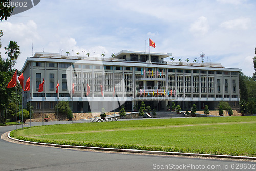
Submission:
M 175 61 L 193 62 L 203 52 L 204 62 L 252 76 L 255 9 L 253 0 L 41 0 L 0 22 L 0 52 L 6 58 L 4 47 L 16 41 L 20 70 L 27 57 L 43 50 L 110 57 L 121 50 L 148 51 L 150 38 L 156 44 L 152 52 L 172 53 Z

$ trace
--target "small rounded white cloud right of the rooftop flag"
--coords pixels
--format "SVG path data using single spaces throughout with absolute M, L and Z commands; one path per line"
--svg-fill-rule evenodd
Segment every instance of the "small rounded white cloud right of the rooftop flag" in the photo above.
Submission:
M 194 33 L 195 35 L 204 35 L 209 30 L 209 24 L 207 22 L 207 18 L 201 16 L 196 20 L 196 22 L 190 25 L 190 32 Z

